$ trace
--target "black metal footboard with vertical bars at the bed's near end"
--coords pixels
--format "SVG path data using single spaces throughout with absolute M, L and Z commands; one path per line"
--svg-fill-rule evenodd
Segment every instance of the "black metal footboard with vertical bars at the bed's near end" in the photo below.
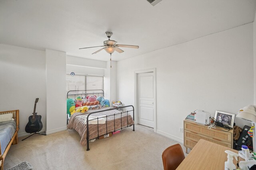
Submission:
M 121 111 L 120 113 L 116 113 L 116 114 L 114 114 L 114 115 L 106 115 L 106 116 L 104 116 L 104 117 L 106 117 L 106 134 L 104 134 L 104 135 L 108 135 L 108 117 L 110 117 L 110 116 L 114 116 L 114 132 L 115 131 L 118 131 L 118 130 L 122 130 L 122 129 L 124 129 L 124 128 L 126 128 L 126 127 L 130 127 L 130 126 L 132 126 L 132 125 L 129 125 L 128 124 L 128 113 L 130 112 L 130 111 L 132 111 L 132 113 L 133 113 L 133 120 L 134 120 L 134 107 L 132 106 L 132 105 L 129 105 L 129 106 L 123 106 L 123 107 L 118 107 L 118 108 L 112 108 L 112 109 L 107 109 L 107 110 L 100 110 L 100 111 L 94 111 L 94 112 L 92 112 L 92 113 L 89 113 L 88 115 L 87 115 L 87 119 L 86 119 L 86 127 L 87 127 L 87 130 L 86 130 L 86 132 L 87 132 L 87 136 L 86 136 L 86 140 L 87 140 L 87 151 L 88 150 L 90 150 L 89 149 L 89 141 L 91 141 L 91 140 L 93 140 L 93 139 L 96 139 L 96 138 L 98 138 L 98 137 L 100 137 L 99 136 L 99 118 L 97 117 L 97 118 L 95 118 L 95 119 L 91 119 L 91 120 L 88 120 L 89 119 L 89 116 L 90 115 L 92 115 L 92 114 L 94 114 L 94 113 L 100 113 L 100 112 L 104 112 L 104 111 L 109 111 L 109 110 L 117 110 L 117 109 L 120 109 L 120 108 L 126 108 L 126 107 L 132 107 L 132 110 L 129 110 L 129 111 Z M 126 116 L 127 116 L 127 126 L 122 126 L 122 114 L 123 113 L 125 113 L 126 114 Z M 120 116 L 120 119 L 121 119 L 121 128 L 119 128 L 119 129 L 116 129 L 116 123 L 115 123 L 115 116 L 116 115 L 119 115 L 119 114 L 121 114 L 121 116 Z M 102 117 L 100 117 L 100 118 L 102 118 Z M 93 139 L 89 139 L 89 121 L 92 121 L 92 120 L 97 120 L 97 128 L 98 128 L 98 137 L 96 137 L 96 138 L 93 138 Z M 133 130 L 132 131 L 135 131 L 135 129 L 134 129 L 134 124 L 133 124 Z M 102 136 L 102 135 L 101 135 Z

